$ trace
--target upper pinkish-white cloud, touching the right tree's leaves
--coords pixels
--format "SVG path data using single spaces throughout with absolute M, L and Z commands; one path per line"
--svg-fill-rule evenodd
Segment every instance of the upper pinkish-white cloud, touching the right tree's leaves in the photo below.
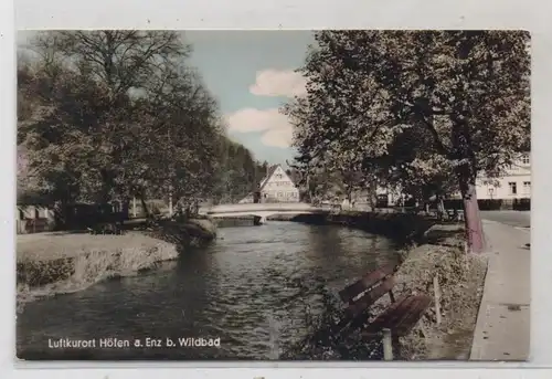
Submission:
M 250 92 L 257 96 L 294 97 L 305 95 L 307 81 L 294 71 L 264 70 L 257 72 L 255 84 Z

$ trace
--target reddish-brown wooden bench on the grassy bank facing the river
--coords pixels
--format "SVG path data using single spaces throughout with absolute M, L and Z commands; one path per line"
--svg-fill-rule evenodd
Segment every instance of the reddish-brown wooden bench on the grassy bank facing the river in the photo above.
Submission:
M 399 339 L 411 331 L 432 303 L 429 296 L 411 293 L 396 299 L 393 286 L 397 269 L 395 264 L 385 265 L 339 292 L 346 317 L 337 324 L 335 331 L 343 334 L 360 329 L 365 343 L 382 339 L 385 360 L 392 360 L 393 355 L 400 356 Z M 385 294 L 389 295 L 389 306 L 381 314 L 371 315 L 371 307 Z

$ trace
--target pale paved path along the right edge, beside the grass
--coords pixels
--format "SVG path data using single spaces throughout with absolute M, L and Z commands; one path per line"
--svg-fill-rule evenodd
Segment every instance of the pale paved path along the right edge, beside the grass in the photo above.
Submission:
M 484 220 L 484 229 L 489 266 L 470 360 L 527 360 L 530 250 L 526 244 L 530 231 L 490 220 Z

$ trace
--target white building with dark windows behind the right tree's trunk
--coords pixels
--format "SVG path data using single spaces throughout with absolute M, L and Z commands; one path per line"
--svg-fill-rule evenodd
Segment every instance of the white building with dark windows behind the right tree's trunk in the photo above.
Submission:
M 523 154 L 500 178 L 481 176 L 477 181 L 478 199 L 530 199 L 531 198 L 531 158 Z

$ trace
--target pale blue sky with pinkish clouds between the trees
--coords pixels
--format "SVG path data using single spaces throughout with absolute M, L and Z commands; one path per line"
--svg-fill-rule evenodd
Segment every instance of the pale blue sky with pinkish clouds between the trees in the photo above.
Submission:
M 20 32 L 19 44 L 32 32 Z M 257 160 L 293 159 L 293 127 L 278 108 L 305 93 L 296 73 L 305 61 L 310 31 L 188 31 L 193 46 L 189 63 L 197 67 L 217 99 L 229 136 Z

